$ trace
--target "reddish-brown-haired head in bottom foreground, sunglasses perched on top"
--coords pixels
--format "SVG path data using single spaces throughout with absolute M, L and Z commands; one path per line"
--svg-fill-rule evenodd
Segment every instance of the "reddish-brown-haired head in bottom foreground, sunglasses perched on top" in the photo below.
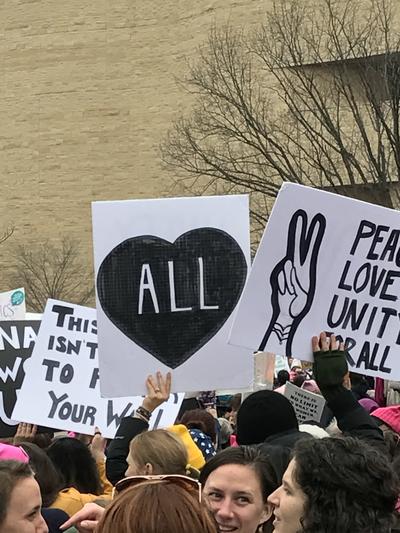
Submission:
M 217 533 L 217 527 L 199 501 L 195 489 L 178 481 L 143 481 L 114 499 L 97 533 Z

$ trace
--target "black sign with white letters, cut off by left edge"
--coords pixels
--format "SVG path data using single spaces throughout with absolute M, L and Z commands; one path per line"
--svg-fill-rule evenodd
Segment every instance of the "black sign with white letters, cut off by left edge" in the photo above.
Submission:
M 15 434 L 12 415 L 40 321 L 0 322 L 0 437 Z

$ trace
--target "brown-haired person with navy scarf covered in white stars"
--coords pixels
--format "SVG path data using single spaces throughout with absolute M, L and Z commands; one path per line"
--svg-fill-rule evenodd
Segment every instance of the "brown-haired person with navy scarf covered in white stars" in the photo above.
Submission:
M 218 423 L 216 418 L 204 409 L 193 409 L 183 414 L 180 423 L 188 428 L 206 461 L 215 455 Z

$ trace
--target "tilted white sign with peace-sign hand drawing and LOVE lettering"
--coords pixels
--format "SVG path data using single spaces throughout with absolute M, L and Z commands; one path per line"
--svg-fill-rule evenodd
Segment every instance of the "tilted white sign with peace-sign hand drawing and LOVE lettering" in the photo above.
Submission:
M 400 379 L 400 213 L 282 186 L 230 342 L 312 360 L 311 337 L 340 335 L 353 372 Z

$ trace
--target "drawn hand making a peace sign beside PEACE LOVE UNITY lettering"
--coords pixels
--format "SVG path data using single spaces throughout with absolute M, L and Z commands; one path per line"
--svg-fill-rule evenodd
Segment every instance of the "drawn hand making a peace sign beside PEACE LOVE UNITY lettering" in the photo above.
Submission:
M 310 223 L 302 209 L 292 216 L 286 255 L 270 276 L 272 317 L 260 344 L 261 351 L 271 334 L 275 333 L 281 344 L 286 341 L 286 355 L 292 355 L 293 337 L 314 299 L 318 253 L 325 228 L 326 219 L 321 213 L 315 215 Z

